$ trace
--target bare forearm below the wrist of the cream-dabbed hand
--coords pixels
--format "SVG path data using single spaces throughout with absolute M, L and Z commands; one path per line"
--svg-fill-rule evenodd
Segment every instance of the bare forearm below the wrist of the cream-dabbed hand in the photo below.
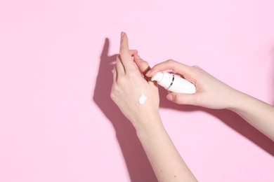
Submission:
M 149 119 L 136 131 L 158 181 L 197 181 L 176 150 L 159 116 Z

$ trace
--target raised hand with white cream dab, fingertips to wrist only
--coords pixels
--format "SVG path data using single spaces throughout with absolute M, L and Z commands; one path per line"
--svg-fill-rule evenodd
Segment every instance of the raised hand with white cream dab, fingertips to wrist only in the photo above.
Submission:
M 110 96 L 136 129 L 153 115 L 159 115 L 157 85 L 144 76 L 149 69 L 148 62 L 137 55 L 137 50 L 129 50 L 128 38 L 122 32 Z M 141 94 L 148 98 L 144 104 L 138 103 Z

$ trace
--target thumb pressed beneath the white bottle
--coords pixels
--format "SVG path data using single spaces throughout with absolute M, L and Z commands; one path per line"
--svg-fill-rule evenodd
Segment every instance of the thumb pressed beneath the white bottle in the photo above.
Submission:
M 195 94 L 176 94 L 173 92 L 169 92 L 169 94 L 167 94 L 167 99 L 177 104 L 196 105 L 195 96 Z

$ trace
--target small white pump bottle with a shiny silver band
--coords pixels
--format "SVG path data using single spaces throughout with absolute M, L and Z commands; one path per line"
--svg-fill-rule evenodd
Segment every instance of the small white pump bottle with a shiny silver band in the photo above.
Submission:
M 155 76 L 152 76 L 151 80 L 156 80 L 158 85 L 161 85 L 170 92 L 178 94 L 194 94 L 196 92 L 196 87 L 193 83 L 171 73 L 158 72 Z

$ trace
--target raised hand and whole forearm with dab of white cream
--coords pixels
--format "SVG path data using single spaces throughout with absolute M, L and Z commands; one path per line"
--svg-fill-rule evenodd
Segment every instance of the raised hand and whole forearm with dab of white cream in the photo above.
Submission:
M 135 127 L 158 181 L 197 181 L 162 125 L 157 85 L 143 78 L 150 69 L 148 62 L 138 57 L 136 50 L 129 50 L 124 33 L 119 53 L 111 98 Z M 148 97 L 143 105 L 138 104 L 141 93 Z

